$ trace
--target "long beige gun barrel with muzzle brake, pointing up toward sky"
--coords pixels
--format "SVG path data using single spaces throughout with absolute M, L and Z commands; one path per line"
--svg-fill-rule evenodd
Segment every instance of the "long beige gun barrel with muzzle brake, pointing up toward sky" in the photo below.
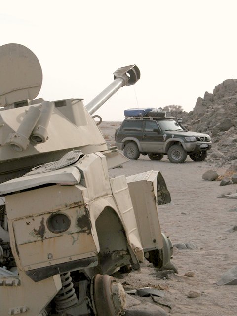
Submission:
M 140 79 L 140 70 L 136 65 L 118 68 L 114 72 L 114 81 L 85 107 L 90 115 L 95 113 L 112 95 L 124 85 L 133 85 Z

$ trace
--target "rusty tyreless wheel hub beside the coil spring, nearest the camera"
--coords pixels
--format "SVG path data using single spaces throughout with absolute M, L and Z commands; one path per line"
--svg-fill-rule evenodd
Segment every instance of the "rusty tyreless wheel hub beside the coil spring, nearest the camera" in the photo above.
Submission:
M 118 316 L 126 307 L 125 291 L 112 276 L 98 274 L 93 278 L 91 298 L 97 316 Z

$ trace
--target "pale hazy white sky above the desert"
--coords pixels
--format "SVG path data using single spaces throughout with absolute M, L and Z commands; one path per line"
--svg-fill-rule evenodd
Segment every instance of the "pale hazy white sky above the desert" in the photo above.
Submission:
M 141 79 L 121 88 L 95 114 L 123 119 L 133 107 L 181 105 L 237 78 L 236 0 L 0 1 L 0 46 L 18 43 L 40 60 L 38 97 L 83 97 L 86 105 L 119 67 Z

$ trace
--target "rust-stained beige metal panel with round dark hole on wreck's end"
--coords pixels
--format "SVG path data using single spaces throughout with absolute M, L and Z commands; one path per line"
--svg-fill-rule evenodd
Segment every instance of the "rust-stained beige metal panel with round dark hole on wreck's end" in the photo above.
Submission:
M 54 214 L 63 214 L 69 219 L 69 228 L 65 232 L 50 231 L 49 221 Z M 97 253 L 84 207 L 20 218 L 10 225 L 13 226 L 18 257 L 25 270 L 87 258 Z

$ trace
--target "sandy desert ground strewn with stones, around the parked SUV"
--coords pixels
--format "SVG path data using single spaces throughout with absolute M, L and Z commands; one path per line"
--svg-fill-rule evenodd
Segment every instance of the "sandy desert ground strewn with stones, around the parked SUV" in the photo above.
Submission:
M 108 144 L 114 145 L 114 132 L 119 124 L 100 125 Z M 187 158 L 183 164 L 172 164 L 166 157 L 151 161 L 141 155 L 138 160 L 123 164 L 123 168 L 110 171 L 111 176 L 161 171 L 172 198 L 170 204 L 158 207 L 161 229 L 173 244 L 197 245 L 195 250 L 174 248 L 172 262 L 178 274 L 170 275 L 169 279 L 159 279 L 157 269 L 147 264 L 142 264 L 140 272 L 119 279 L 126 290 L 145 286 L 162 289 L 165 297 L 158 301 L 172 308 L 165 308 L 168 315 L 237 315 L 237 286 L 216 284 L 228 269 L 237 266 L 237 231 L 229 232 L 237 225 L 237 200 L 217 197 L 228 191 L 235 193 L 237 184 L 220 186 L 219 181 L 202 180 L 202 174 L 209 169 L 215 167 L 208 161 L 193 162 Z M 217 171 L 224 174 L 226 169 Z M 184 276 L 187 272 L 194 276 Z M 199 297 L 187 297 L 190 291 L 198 292 Z M 147 300 L 152 302 L 151 298 Z

